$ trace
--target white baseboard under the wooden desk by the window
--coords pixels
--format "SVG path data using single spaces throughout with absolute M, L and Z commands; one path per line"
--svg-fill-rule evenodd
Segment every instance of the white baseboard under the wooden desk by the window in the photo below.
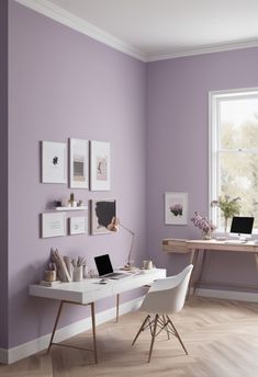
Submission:
M 195 295 L 200 297 L 212 297 L 228 300 L 258 302 L 257 293 L 198 288 Z

